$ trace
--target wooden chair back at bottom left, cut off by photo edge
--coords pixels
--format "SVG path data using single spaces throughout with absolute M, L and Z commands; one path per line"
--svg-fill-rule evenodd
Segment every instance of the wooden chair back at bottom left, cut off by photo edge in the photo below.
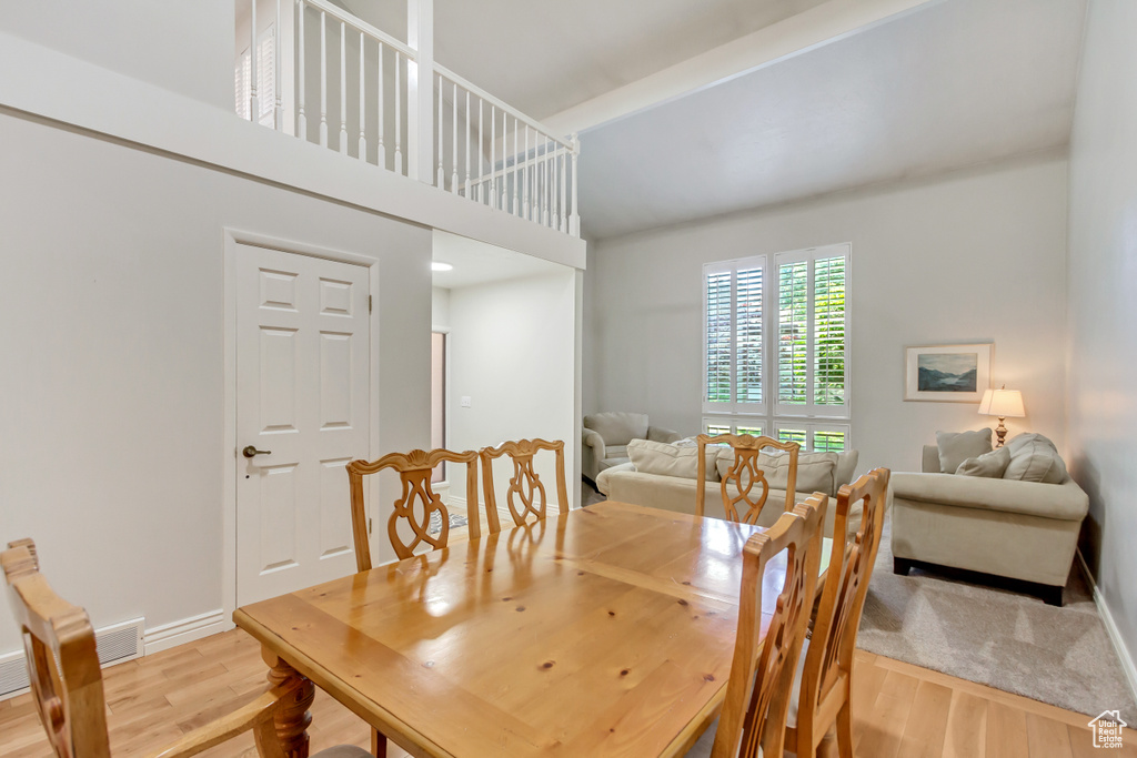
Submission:
M 107 708 L 91 619 L 43 578 L 31 540 L 8 548 L 0 563 L 48 742 L 60 758 L 107 758 Z

